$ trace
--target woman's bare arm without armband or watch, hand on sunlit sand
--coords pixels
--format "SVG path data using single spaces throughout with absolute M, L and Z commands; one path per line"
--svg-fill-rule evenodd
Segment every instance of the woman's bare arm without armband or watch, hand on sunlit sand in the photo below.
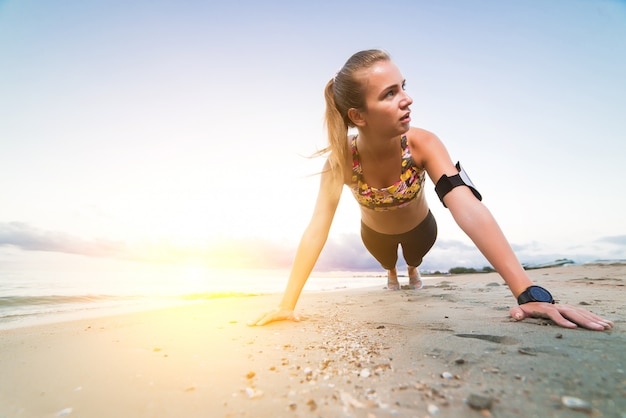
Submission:
M 248 325 L 265 325 L 272 321 L 286 319 L 299 320 L 298 316 L 294 314 L 294 309 L 300 293 L 302 293 L 302 289 L 326 244 L 342 189 L 343 177 L 340 173 L 330 170 L 327 162 L 321 175 L 315 209 L 311 221 L 300 239 L 283 298 L 278 308 L 265 312 Z

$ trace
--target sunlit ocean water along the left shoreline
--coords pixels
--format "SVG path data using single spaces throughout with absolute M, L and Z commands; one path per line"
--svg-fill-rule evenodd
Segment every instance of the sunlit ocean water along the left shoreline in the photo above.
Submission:
M 381 272 L 382 273 L 382 272 Z M 28 261 L 0 255 L 0 330 L 282 292 L 286 270 L 211 269 L 39 254 Z M 304 291 L 384 287 L 372 272 L 314 272 Z

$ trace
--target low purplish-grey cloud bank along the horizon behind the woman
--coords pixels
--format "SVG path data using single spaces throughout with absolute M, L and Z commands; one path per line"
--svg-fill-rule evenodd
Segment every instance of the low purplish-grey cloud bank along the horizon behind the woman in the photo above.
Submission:
M 221 239 L 181 244 L 144 241 L 128 243 L 109 239 L 85 239 L 59 231 L 33 227 L 21 222 L 0 222 L 0 247 L 13 246 L 24 251 L 48 251 L 143 262 L 197 262 L 215 267 L 289 269 L 296 246 L 289 241 L 265 238 Z M 546 251 L 537 242 L 512 245 L 524 264 L 540 264 L 561 258 L 582 263 L 598 259 L 624 259 L 626 235 L 607 236 L 589 244 L 563 251 Z M 447 271 L 452 267 L 482 268 L 489 262 L 478 249 L 465 242 L 438 240 L 424 258 L 424 271 Z M 398 268 L 404 268 L 399 256 Z M 315 266 L 317 271 L 381 271 L 382 268 L 361 242 L 358 234 L 329 238 Z M 400 271 L 402 273 L 402 271 Z

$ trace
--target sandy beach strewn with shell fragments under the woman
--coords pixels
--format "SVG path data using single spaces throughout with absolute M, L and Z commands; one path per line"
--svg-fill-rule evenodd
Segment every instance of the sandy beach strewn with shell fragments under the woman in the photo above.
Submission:
M 626 266 L 529 274 L 614 328 L 515 322 L 495 273 L 305 291 L 299 323 L 247 326 L 268 295 L 19 328 L 0 418 L 626 417 Z

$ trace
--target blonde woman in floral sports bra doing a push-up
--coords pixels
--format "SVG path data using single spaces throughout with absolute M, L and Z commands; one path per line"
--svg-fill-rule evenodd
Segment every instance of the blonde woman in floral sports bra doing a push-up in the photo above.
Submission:
M 344 185 L 360 204 L 363 243 L 387 270 L 388 288 L 400 288 L 398 245 L 407 262 L 409 287 L 420 288 L 417 267 L 437 235 L 423 192 L 428 173 L 441 202 L 518 299 L 519 306 L 510 311 L 513 318 L 545 317 L 567 328 L 611 328 L 610 321 L 584 309 L 554 304 L 547 290 L 533 286 L 461 166 L 453 164 L 434 134 L 410 127 L 413 100 L 404 86 L 398 67 L 379 50 L 354 54 L 326 85 L 329 146 L 322 153 L 330 154 L 315 210 L 280 305 L 251 325 L 299 320 L 294 308 L 326 243 Z M 358 131 L 353 137 L 348 137 L 350 127 Z

